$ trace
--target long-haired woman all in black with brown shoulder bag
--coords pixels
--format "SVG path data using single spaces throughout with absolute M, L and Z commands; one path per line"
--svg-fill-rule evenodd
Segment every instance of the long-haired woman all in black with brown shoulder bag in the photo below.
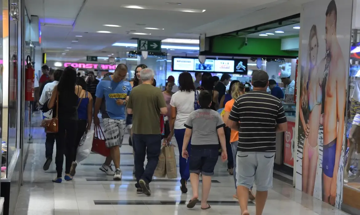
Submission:
M 58 133 L 56 139 L 56 171 L 57 177 L 53 180 L 55 183 L 62 182 L 62 171 L 65 162 L 65 180 L 72 180 L 70 169 L 72 161 L 76 156 L 75 145 L 77 136 L 77 105 L 82 87 L 76 85 L 76 70 L 73 67 L 66 67 L 60 77 L 59 84 L 54 87 L 48 102 L 48 108 L 53 109 L 53 118 L 58 117 Z M 56 104 L 56 102 L 58 102 Z M 58 106 L 58 109 L 57 109 Z

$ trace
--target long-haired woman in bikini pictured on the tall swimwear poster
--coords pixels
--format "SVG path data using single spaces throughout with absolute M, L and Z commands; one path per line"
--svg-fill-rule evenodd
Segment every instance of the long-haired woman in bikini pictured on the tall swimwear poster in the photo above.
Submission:
M 321 121 L 322 80 L 323 69 L 318 63 L 318 35 L 313 25 L 309 35 L 306 70 L 301 77 L 300 93 L 300 125 L 302 127 L 303 142 L 302 153 L 302 191 L 309 195 L 314 194 L 316 169 L 318 167 L 319 146 L 318 133 Z M 324 61 L 321 61 L 321 65 Z M 302 135 L 299 133 L 299 136 Z M 300 138 L 300 137 L 299 137 Z

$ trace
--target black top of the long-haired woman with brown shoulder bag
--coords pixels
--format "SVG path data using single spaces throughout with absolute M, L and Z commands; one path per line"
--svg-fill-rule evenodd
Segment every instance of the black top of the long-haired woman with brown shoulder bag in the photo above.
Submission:
M 78 99 L 77 96 L 79 93 L 75 94 L 74 91 L 59 93 L 59 110 L 58 118 L 59 119 L 73 119 L 77 120 L 77 105 Z M 56 105 L 53 110 L 53 117 L 56 116 Z

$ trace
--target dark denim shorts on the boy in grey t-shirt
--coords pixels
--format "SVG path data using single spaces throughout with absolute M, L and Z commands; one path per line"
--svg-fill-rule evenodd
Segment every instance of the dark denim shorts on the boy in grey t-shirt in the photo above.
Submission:
M 197 173 L 207 176 L 214 175 L 215 165 L 219 158 L 219 150 L 215 148 L 191 148 L 189 157 L 190 173 Z

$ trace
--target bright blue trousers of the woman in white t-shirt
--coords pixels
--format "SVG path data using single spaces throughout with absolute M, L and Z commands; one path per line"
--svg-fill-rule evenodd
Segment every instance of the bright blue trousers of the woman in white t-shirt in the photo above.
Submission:
M 177 148 L 179 148 L 179 171 L 181 179 L 188 180 L 190 178 L 189 172 L 189 159 L 186 160 L 181 156 L 181 152 L 183 152 L 183 142 L 184 142 L 185 128 L 184 129 L 174 129 L 174 136 L 177 142 Z M 191 140 L 189 141 L 188 147 L 189 156 L 191 156 Z

